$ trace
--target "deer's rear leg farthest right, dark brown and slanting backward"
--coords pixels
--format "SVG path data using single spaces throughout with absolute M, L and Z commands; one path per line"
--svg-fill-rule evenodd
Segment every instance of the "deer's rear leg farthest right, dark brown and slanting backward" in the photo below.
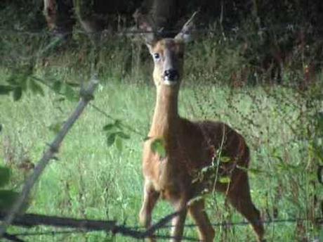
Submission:
M 261 220 L 260 212 L 253 205 L 250 195 L 248 175 L 244 172 L 239 174 L 241 177 L 232 184 L 231 189 L 227 193 L 227 198 L 248 221 L 251 223 L 253 230 L 258 236 L 258 241 L 264 241 L 263 222 Z

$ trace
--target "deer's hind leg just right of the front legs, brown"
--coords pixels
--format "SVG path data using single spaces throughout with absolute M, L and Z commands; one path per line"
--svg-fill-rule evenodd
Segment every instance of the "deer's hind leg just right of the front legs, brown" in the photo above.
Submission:
M 198 200 L 190 205 L 188 212 L 197 224 L 199 240 L 203 242 L 212 242 L 214 238 L 214 229 L 204 210 L 204 200 Z

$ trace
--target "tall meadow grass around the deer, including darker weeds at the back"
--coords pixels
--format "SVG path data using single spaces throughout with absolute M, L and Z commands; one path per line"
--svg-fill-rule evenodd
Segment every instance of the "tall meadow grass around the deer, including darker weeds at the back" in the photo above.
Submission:
M 53 87 L 55 80 L 86 81 L 91 75 L 91 62 L 97 58 L 102 82 L 93 104 L 136 132 L 125 130 L 130 139 L 122 143 L 121 150 L 108 147 L 103 127 L 112 120 L 89 106 L 62 144 L 58 160 L 41 177 L 28 212 L 115 219 L 137 226 L 143 183 L 141 149 L 154 108 L 150 57 L 141 44 L 126 39 L 119 42 L 107 39 L 93 53 L 82 36 L 75 38 L 79 38 L 78 46 L 67 44 L 49 50 L 46 56 L 34 54 L 19 58 L 20 64 L 28 65 L 32 60 L 31 75 Z M 17 48 L 25 47 L 18 45 Z M 267 77 L 253 72 L 241 55 L 242 49 L 242 45 L 235 46 L 220 37 L 201 39 L 187 46 L 180 114 L 191 120 L 221 120 L 242 133 L 252 152 L 251 194 L 263 218 L 308 219 L 266 225 L 268 241 L 310 241 L 318 236 L 312 219 L 319 215 L 314 197 L 321 196 L 315 181 L 317 156 L 310 150 L 312 139 L 317 139 L 312 118 L 322 108 L 322 99 L 315 97 L 322 93 L 321 78 L 317 75 L 318 80 L 308 84 L 306 90 L 288 85 L 252 85 L 255 75 L 261 82 L 261 78 Z M 12 75 L 11 65 L 3 65 L 1 79 Z M 302 79 L 303 72 L 297 72 L 296 77 Z M 28 89 L 18 102 L 10 96 L 1 96 L 0 162 L 13 169 L 11 186 L 16 189 L 20 189 L 23 178 L 31 170 L 26 164 L 39 159 L 46 143 L 55 135 L 53 127 L 63 122 L 75 105 L 73 101 L 62 100 L 60 94 L 46 85 L 41 84 L 44 96 L 32 94 Z M 213 223 L 242 221 L 220 194 L 207 200 L 207 212 Z M 169 205 L 160 203 L 154 219 L 169 212 Z M 187 224 L 190 223 L 188 219 Z M 216 232 L 216 241 L 254 240 L 250 227 L 217 227 Z M 185 234 L 197 237 L 194 228 L 185 229 Z M 104 241 L 107 238 L 110 237 L 103 233 L 30 237 L 34 241 Z M 117 236 L 115 241 L 133 240 Z

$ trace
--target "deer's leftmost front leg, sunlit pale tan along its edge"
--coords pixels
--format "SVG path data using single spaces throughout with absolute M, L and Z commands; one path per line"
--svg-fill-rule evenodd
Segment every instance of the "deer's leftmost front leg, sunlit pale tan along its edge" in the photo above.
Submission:
M 152 182 L 145 180 L 145 185 L 143 189 L 143 206 L 141 207 L 139 220 L 140 224 L 143 224 L 145 228 L 149 228 L 152 223 L 152 210 L 154 205 L 156 205 L 159 198 L 159 192 L 154 190 Z M 154 241 L 153 238 L 150 238 L 150 241 Z

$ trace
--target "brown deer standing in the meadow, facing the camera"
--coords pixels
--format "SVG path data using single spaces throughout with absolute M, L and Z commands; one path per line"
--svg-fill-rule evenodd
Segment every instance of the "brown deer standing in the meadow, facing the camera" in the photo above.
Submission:
M 204 208 L 204 196 L 199 195 L 219 191 L 249 221 L 257 241 L 264 241 L 261 215 L 251 200 L 247 173 L 250 152 L 244 137 L 223 122 L 192 122 L 178 114 L 184 48 L 192 39 L 195 15 L 173 38 L 161 37 L 145 15 L 134 15 L 154 61 L 152 77 L 157 90 L 152 124 L 143 145 L 140 223 L 149 229 L 154 206 L 166 200 L 178 212 L 171 221 L 171 241 L 181 241 L 187 213 L 197 225 L 199 240 L 213 241 L 215 231 Z M 152 148 L 157 141 L 164 147 L 164 154 Z M 225 162 L 220 156 L 226 158 Z M 216 165 L 215 160 L 219 161 Z M 230 181 L 220 182 L 217 176 L 228 176 Z M 156 238 L 151 235 L 148 240 Z

